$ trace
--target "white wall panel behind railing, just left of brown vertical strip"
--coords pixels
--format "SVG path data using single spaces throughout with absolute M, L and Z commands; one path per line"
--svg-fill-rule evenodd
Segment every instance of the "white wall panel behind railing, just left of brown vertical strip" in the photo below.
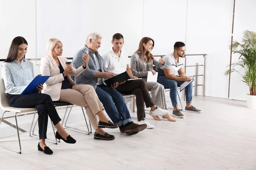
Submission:
M 233 0 L 188 2 L 186 53 L 207 54 L 207 96 L 227 98 L 228 77 L 224 70 L 230 59 L 232 14 Z

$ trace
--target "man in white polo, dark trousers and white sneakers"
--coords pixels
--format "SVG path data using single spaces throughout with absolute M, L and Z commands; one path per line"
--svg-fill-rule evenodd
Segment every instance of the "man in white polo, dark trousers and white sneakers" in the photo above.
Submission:
M 136 96 L 137 105 L 137 124 L 146 124 L 146 128 L 148 129 L 154 128 L 154 126 L 145 119 L 144 102 L 147 108 L 151 108 L 151 113 L 155 115 L 163 115 L 163 113 L 166 114 L 168 111 L 154 105 L 144 80 L 138 79 L 138 77 L 135 77 L 131 73 L 131 69 L 128 65 L 128 54 L 122 50 L 124 44 L 124 37 L 122 34 L 114 34 L 111 42 L 113 47 L 103 56 L 105 68 L 107 71 L 110 71 L 116 75 L 127 71 L 131 79 L 136 79 L 119 83 L 116 90 L 122 94 L 134 94 Z

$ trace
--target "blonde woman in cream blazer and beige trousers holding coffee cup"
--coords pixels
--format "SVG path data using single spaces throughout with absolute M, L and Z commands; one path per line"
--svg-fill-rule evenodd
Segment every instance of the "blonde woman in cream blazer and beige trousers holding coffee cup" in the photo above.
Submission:
M 69 102 L 86 109 L 87 116 L 95 129 L 94 139 L 112 140 L 115 136 L 106 133 L 102 128 L 117 128 L 104 114 L 104 107 L 91 85 L 76 85 L 70 76 L 78 76 L 87 67 L 88 54 L 84 54 L 84 64 L 78 69 L 67 64 L 61 57 L 62 43 L 51 38 L 47 43 L 47 56 L 41 58 L 40 71 L 43 76 L 51 76 L 45 82 L 42 93 L 49 94 L 52 101 Z M 57 137 L 57 135 L 56 135 Z

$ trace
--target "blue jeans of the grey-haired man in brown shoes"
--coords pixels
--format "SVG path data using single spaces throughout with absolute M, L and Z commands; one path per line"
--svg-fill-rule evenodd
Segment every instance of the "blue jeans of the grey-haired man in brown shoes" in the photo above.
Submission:
M 128 122 L 133 122 L 125 99 L 116 89 L 101 84 L 95 91 L 113 123 L 120 127 Z

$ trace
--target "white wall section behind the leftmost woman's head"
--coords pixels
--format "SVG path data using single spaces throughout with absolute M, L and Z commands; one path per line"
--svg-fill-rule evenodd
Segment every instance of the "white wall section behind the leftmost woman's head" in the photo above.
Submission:
M 12 40 L 25 37 L 26 58 L 36 57 L 35 0 L 0 0 L 0 59 L 6 59 Z

